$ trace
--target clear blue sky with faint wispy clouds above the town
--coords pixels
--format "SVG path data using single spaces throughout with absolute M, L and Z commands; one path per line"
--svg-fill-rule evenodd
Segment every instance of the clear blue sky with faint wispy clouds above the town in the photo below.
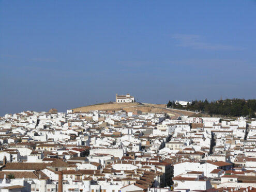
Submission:
M 255 34 L 256 1 L 0 0 L 0 116 L 256 99 Z

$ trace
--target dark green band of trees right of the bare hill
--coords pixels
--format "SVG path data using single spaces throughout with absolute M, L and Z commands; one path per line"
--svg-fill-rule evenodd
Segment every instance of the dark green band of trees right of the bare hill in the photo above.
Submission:
M 244 100 L 244 99 L 227 99 L 208 102 L 204 101 L 192 101 L 191 104 L 187 104 L 187 107 L 182 105 L 175 105 L 175 102 L 169 101 L 167 107 L 175 107 L 180 109 L 198 110 L 203 111 L 209 115 L 223 115 L 223 116 L 244 116 L 249 118 L 255 118 L 256 100 Z

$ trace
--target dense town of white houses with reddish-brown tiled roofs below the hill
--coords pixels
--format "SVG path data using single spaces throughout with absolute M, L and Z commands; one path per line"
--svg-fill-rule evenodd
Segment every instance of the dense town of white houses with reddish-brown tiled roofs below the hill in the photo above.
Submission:
M 170 117 L 6 114 L 0 191 L 256 191 L 256 121 Z

